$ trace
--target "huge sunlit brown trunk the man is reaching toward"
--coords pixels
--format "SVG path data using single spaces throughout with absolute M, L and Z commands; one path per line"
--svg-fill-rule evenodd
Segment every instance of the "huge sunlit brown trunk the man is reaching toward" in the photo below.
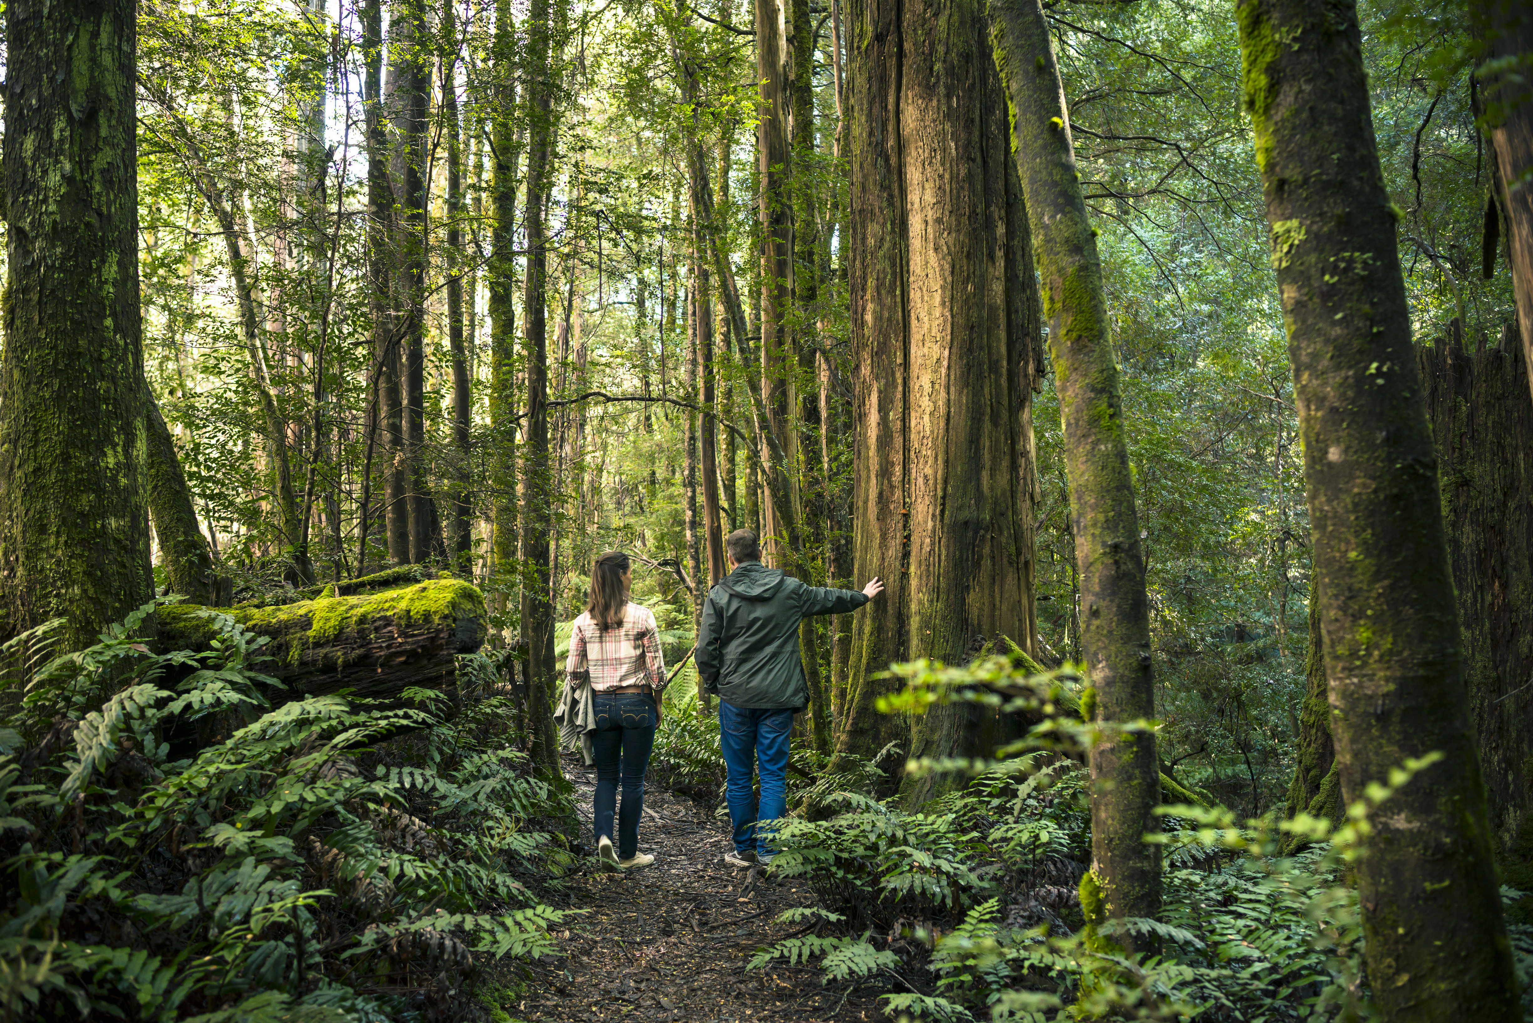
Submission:
M 1026 410 L 1032 284 L 1007 152 L 1006 98 L 981 3 L 854 5 L 852 345 L 857 373 L 854 558 L 885 597 L 852 624 L 839 752 L 871 756 L 901 722 L 875 699 L 891 661 L 963 663 L 1004 635 L 1030 650 Z M 906 753 L 992 748 L 993 712 L 934 707 Z M 909 779 L 926 799 L 952 778 Z

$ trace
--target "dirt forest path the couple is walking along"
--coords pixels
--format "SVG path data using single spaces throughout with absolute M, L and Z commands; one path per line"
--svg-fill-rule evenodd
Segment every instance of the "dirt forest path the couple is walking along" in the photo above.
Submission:
M 595 770 L 566 758 L 576 810 L 590 842 Z M 704 807 L 650 784 L 639 851 L 655 863 L 606 874 L 586 860 L 570 880 L 572 910 L 560 956 L 532 963 L 523 994 L 503 1009 L 527 1023 L 664 1020 L 667 1023 L 872 1023 L 886 1018 L 878 995 L 892 979 L 822 985 L 819 969 L 786 966 L 745 972 L 762 945 L 803 933 L 777 923 L 789 906 L 812 905 L 808 886 L 768 883 L 760 871 L 724 862 L 728 824 Z

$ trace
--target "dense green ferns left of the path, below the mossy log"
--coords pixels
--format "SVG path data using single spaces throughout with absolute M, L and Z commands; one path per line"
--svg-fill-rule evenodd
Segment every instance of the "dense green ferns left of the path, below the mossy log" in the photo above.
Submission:
M 529 885 L 569 808 L 503 744 L 506 698 L 273 707 L 262 638 L 210 613 L 213 650 L 156 655 L 152 612 L 8 679 L 0 1018 L 432 1020 L 552 948 L 567 911 Z

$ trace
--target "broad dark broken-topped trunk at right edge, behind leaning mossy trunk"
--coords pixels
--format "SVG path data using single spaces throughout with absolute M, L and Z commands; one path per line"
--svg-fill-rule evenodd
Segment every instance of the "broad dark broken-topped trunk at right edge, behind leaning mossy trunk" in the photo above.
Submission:
M 1505 863 L 1533 859 L 1533 396 L 1515 328 L 1502 347 L 1416 348 L 1464 636 L 1469 710 Z M 1527 837 L 1525 837 L 1527 836 Z M 1521 888 L 1528 876 L 1505 877 Z

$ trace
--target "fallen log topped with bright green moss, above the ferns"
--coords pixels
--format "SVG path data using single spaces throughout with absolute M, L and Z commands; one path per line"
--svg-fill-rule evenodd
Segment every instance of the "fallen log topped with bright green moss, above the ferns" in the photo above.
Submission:
M 210 649 L 218 630 L 208 610 L 270 636 L 264 649 L 274 661 L 264 670 L 305 696 L 353 690 L 356 696 L 392 699 L 419 687 L 455 698 L 454 661 L 458 653 L 478 650 L 486 632 L 478 587 L 434 578 L 276 607 L 161 607 L 161 649 Z

